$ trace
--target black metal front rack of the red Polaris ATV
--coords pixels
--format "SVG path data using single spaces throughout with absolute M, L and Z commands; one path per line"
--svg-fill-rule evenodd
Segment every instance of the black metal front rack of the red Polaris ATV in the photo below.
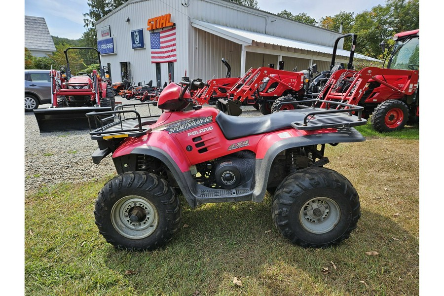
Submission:
M 156 103 L 124 104 L 117 106 L 114 111 L 86 113 L 91 139 L 108 140 L 145 135 L 151 131 L 149 126 L 159 118 L 159 115 L 151 114 L 149 106 Z M 141 105 L 148 107 L 148 115 L 142 116 L 136 111 L 136 106 L 142 107 Z

